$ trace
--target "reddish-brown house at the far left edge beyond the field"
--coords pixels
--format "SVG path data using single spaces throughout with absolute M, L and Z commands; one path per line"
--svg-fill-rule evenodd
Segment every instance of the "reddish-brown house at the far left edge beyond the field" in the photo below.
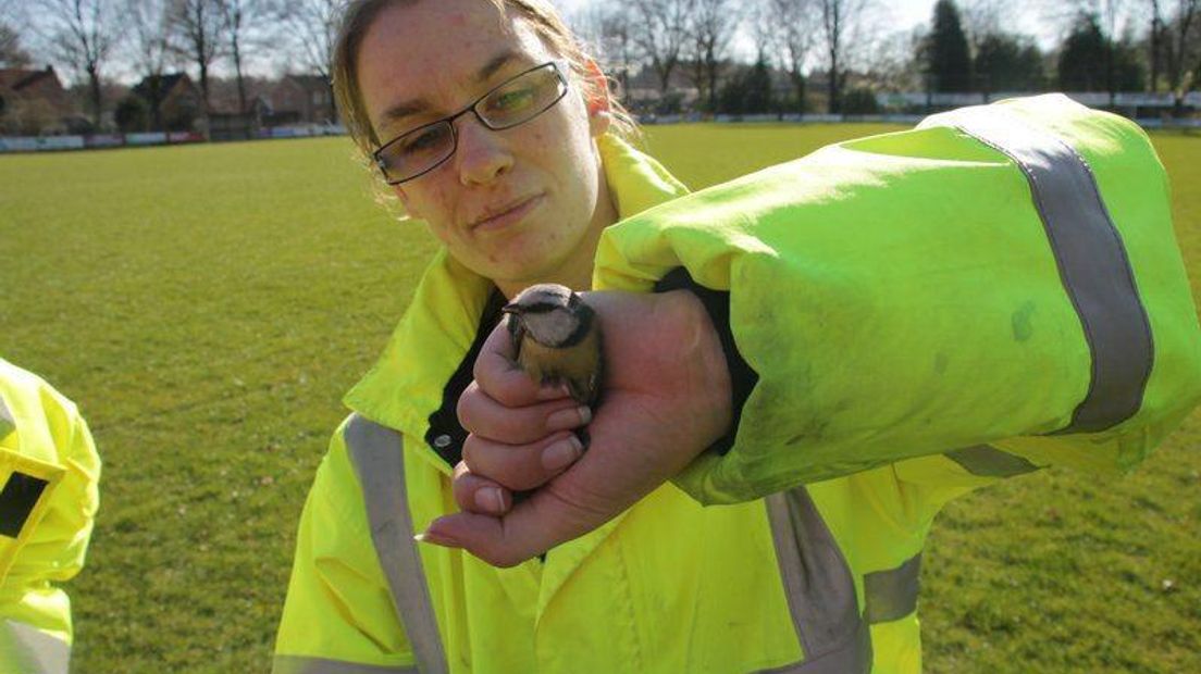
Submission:
M 52 136 L 71 131 L 78 110 L 54 68 L 0 68 L 0 134 Z

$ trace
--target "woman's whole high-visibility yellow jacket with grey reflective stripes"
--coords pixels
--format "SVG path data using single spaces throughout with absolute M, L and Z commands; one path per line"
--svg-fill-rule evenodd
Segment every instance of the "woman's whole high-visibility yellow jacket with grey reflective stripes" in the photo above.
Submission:
M 682 186 L 653 160 L 603 139 L 619 211 L 641 216 L 607 231 L 596 285 L 649 289 L 683 266 L 700 284 L 728 289 L 729 327 L 760 379 L 729 450 L 698 459 L 679 487 L 665 485 L 545 560 L 514 568 L 412 541 L 454 510 L 449 475 L 464 440 L 455 401 L 500 306 L 486 279 L 441 253 L 383 357 L 346 398 L 354 414 L 334 434 L 301 514 L 275 672 L 920 672 L 921 549 L 949 499 L 1060 457 L 1133 464 L 1197 398 L 1199 331 L 1161 167 L 1133 125 L 1057 100 L 1017 108 L 1039 106 L 1016 114 L 1029 127 L 1016 136 L 973 126 L 1008 124 L 1014 113 L 969 110 L 967 122 L 936 118 L 679 199 Z M 1085 182 L 1063 185 L 1065 176 Z M 1078 199 L 1095 183 L 1105 205 L 1095 188 L 1092 204 Z M 964 207 L 961 188 L 974 191 L 967 197 L 979 207 Z M 1131 194 L 1111 201 L 1111 191 Z M 1065 215 L 1060 200 L 1074 198 Z M 1105 206 L 1113 218 L 1104 222 L 1117 221 L 1125 248 L 1110 234 L 1105 249 L 1093 251 L 1091 234 L 1059 229 L 1075 227 L 1059 218 L 1077 211 L 1097 225 Z M 865 222 L 885 240 L 852 229 Z M 1027 229 L 1010 231 L 1015 225 Z M 1078 271 L 1057 271 L 1080 253 L 1048 245 L 1064 235 L 1088 259 L 1112 261 L 1115 247 L 1134 259 L 1143 303 L 1133 312 L 1125 297 L 1117 318 L 1151 317 L 1157 349 L 1140 361 L 1148 377 L 1122 371 L 1113 385 L 1112 363 L 1088 374 L 1115 337 L 1104 326 L 1083 336 L 1097 297 L 1087 283 L 1080 290 L 1060 279 Z M 907 241 L 920 253 L 889 255 Z M 1022 270 L 1006 273 L 1005 264 L 981 261 L 984 252 L 962 251 L 975 246 Z M 972 290 L 990 297 L 980 311 L 942 288 L 964 269 L 972 283 L 990 279 Z M 1009 296 L 997 288 L 1005 283 L 1020 290 Z M 1107 295 L 1122 290 L 1105 290 L 1109 308 Z M 1068 309 L 1085 305 L 1088 315 L 1065 315 L 1051 295 Z M 1015 297 L 1022 301 L 1011 305 Z M 961 324 L 973 320 L 985 324 L 966 332 Z M 1003 335 L 978 343 L 990 330 Z M 1160 330 L 1171 333 L 1166 342 Z M 940 332 L 950 337 L 939 341 Z M 1063 344 L 1076 339 L 1085 345 Z M 991 372 L 1014 363 L 1023 367 L 1020 381 Z M 1161 373 L 1175 365 L 1188 372 Z M 872 390 L 873 380 L 884 390 Z M 1018 390 L 978 392 L 978 383 Z M 1145 391 L 1135 396 L 1131 386 Z M 1094 389 L 1105 397 L 1101 421 Z M 858 396 L 880 407 L 866 409 Z M 1137 398 L 1133 411 L 1112 403 L 1123 396 Z M 975 417 L 980 427 L 958 419 L 975 414 L 966 409 L 973 403 L 990 405 Z M 1069 428 L 1074 415 L 1100 455 L 1085 458 L 1095 461 L 1069 440 L 1057 445 L 1076 435 L 1040 435 L 1056 444 L 1050 449 L 1014 439 Z M 1100 425 L 1135 427 L 1140 417 L 1137 439 L 1117 441 L 1118 451 L 1092 438 L 1116 438 Z

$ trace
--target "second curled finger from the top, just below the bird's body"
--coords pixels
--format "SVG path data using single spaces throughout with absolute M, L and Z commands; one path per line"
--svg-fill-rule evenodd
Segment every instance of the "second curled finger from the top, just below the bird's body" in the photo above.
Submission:
M 525 374 L 522 374 L 525 377 Z M 507 445 L 525 445 L 556 431 L 579 428 L 592 411 L 572 398 L 510 408 L 471 383 L 459 397 L 459 422 L 467 432 Z

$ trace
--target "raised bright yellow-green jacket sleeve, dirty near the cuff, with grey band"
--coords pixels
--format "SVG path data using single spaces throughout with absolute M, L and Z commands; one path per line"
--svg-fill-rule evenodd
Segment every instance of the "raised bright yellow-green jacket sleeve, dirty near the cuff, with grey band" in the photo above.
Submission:
M 1035 181 L 954 118 L 829 146 L 604 233 L 594 288 L 647 291 L 685 267 L 729 294 L 727 326 L 758 377 L 733 443 L 677 486 L 736 503 L 914 457 L 970 461 L 987 453 L 979 447 L 1018 465 L 1117 473 L 1195 407 L 1201 330 L 1146 134 L 1063 97 L 985 108 L 1092 176 L 1059 195 L 1092 194 L 1103 236 L 1058 240 L 1047 224 L 1057 204 L 1038 192 L 1047 176 Z M 1100 294 L 1081 293 L 1064 254 L 1098 240 L 1117 266 L 1097 277 Z M 1086 257 L 1083 271 L 1099 264 Z M 1111 302 L 1104 284 L 1123 273 L 1134 296 Z M 1099 323 L 1082 319 L 1089 302 Z M 1121 323 L 1111 305 L 1142 321 L 1121 336 L 1146 329 L 1141 356 L 1094 333 Z M 1118 369 L 1145 359 L 1146 372 L 1103 379 L 1106 354 Z M 1078 426 L 1082 402 L 1105 396 L 1135 407 Z

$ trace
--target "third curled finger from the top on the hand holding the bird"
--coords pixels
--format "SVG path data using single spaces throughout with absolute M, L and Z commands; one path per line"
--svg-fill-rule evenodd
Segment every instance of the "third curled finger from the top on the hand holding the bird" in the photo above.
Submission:
M 502 445 L 468 435 L 462 445 L 462 463 L 476 479 L 524 492 L 545 485 L 580 458 L 582 452 L 584 445 L 569 431 L 560 431 L 528 445 Z

